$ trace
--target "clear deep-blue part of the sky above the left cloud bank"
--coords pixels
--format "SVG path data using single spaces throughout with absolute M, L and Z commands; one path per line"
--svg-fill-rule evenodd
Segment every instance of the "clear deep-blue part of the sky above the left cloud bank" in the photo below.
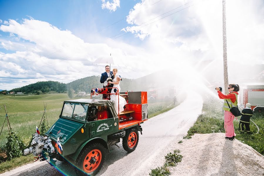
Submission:
M 115 12 L 102 9 L 102 1 L 0 1 L 0 19 L 8 21 L 15 19 L 22 21 L 23 18 L 32 18 L 46 21 L 62 30 L 70 30 L 78 36 L 78 32 L 96 33 L 101 37 L 110 38 L 127 26 L 126 20 L 122 20 L 104 30 L 101 30 L 112 23 L 115 23 L 129 14 L 129 10 L 137 4 L 139 0 L 121 1 L 120 8 Z M 101 30 L 101 31 L 99 31 Z M 97 33 L 97 31 L 99 31 Z M 75 33 L 76 32 L 76 33 Z M 2 37 L 8 37 L 9 33 L 0 31 Z M 78 36 L 81 37 L 81 36 Z M 92 39 L 92 38 L 90 38 Z M 122 39 L 122 37 L 120 38 Z M 128 34 L 123 37 L 128 43 L 140 44 L 141 41 Z M 96 42 L 91 41 L 90 42 Z M 6 53 L 3 48 L 0 51 Z M 10 52 L 10 51 L 9 51 Z M 12 52 L 12 51 L 11 51 Z

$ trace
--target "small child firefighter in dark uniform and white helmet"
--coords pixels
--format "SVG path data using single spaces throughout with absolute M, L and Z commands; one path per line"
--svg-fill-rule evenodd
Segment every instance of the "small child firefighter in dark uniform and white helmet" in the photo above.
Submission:
M 250 122 L 250 117 L 253 116 L 253 111 L 251 110 L 251 104 L 247 103 L 245 109 L 242 110 L 241 112 L 242 116 L 239 121 L 239 130 L 240 131 L 245 131 L 244 130 L 244 125 L 246 127 L 246 132 L 250 132 L 250 127 L 249 127 L 249 122 Z

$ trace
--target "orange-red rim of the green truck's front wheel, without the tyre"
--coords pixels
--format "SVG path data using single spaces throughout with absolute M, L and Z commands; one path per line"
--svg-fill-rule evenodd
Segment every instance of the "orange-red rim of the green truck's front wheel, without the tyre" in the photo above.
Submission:
M 83 160 L 84 172 L 90 173 L 97 169 L 102 160 L 102 153 L 98 149 L 90 151 Z

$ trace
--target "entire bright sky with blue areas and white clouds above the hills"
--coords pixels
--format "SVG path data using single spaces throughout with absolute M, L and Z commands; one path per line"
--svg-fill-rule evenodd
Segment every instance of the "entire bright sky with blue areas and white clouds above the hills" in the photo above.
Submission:
M 226 1 L 230 79 L 264 64 L 263 16 L 262 0 Z M 0 0 L 0 89 L 101 75 L 110 53 L 123 78 L 222 80 L 222 0 Z

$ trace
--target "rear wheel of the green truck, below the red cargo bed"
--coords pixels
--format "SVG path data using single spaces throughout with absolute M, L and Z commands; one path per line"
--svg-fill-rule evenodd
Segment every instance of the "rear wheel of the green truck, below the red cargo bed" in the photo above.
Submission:
M 130 130 L 126 131 L 126 135 L 124 138 L 122 138 L 122 144 L 123 148 L 127 152 L 132 152 L 137 148 L 138 140 L 139 140 L 139 135 L 138 131 L 135 128 L 131 128 Z

